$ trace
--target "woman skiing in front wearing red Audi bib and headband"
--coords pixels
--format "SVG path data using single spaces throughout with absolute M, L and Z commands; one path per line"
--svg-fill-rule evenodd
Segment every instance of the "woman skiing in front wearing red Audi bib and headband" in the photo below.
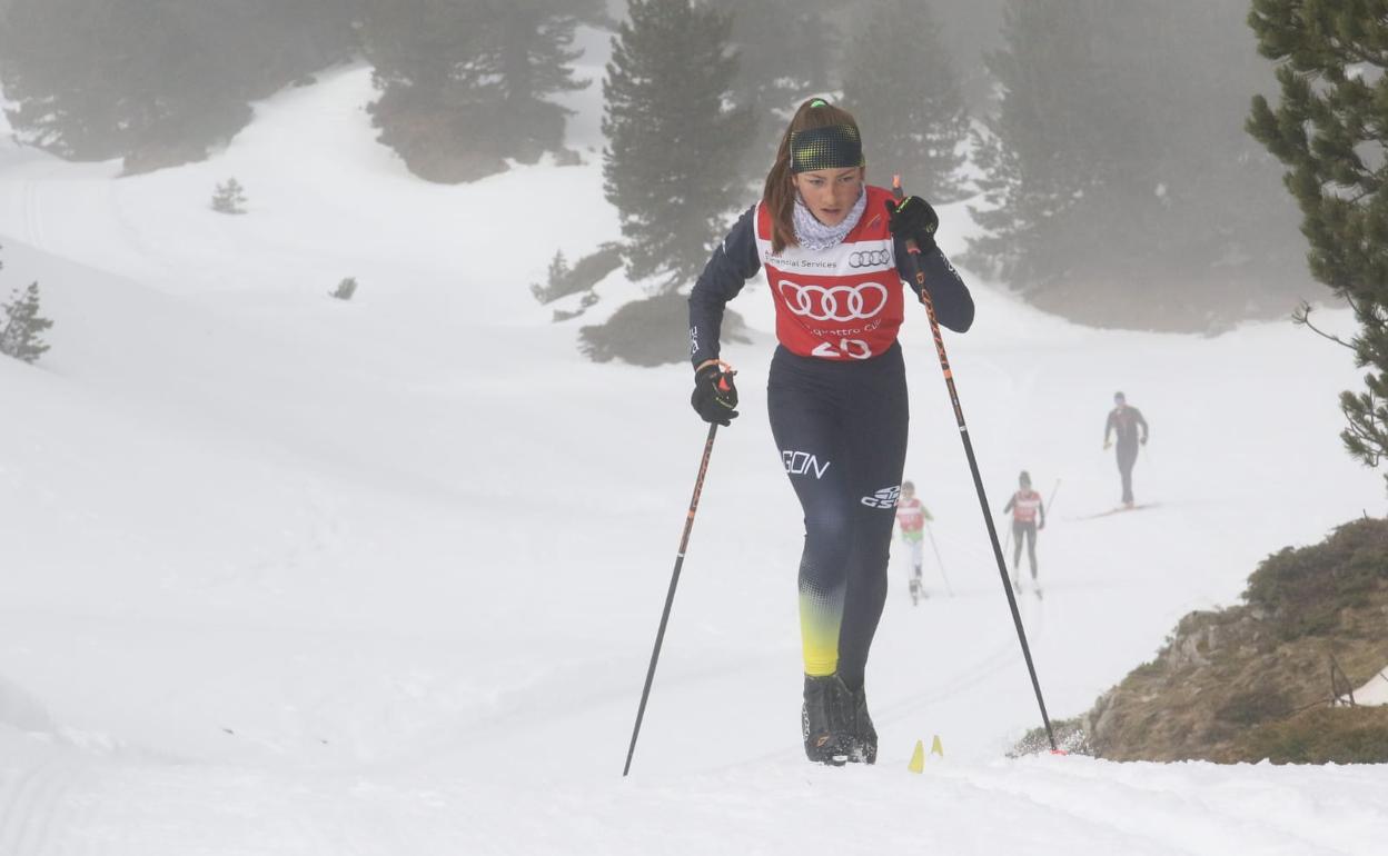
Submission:
M 772 436 L 805 512 L 799 628 L 801 731 L 812 762 L 873 763 L 863 671 L 887 599 L 887 556 L 906 456 L 906 240 L 944 326 L 965 332 L 973 298 L 936 247 L 920 197 L 866 183 L 858 123 L 823 99 L 801 104 L 752 205 L 690 294 L 691 402 L 729 425 L 737 388 L 719 362 L 725 304 L 766 269 L 776 337 L 766 384 Z

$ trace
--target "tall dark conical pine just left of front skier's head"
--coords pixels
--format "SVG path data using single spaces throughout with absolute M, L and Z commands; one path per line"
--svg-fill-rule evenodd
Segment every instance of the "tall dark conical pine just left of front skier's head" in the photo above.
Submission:
M 745 108 L 725 100 L 736 74 L 729 18 L 690 0 L 630 0 L 602 83 L 602 178 L 626 239 L 627 273 L 662 291 L 708 261 L 744 198 L 736 164 L 751 140 Z

